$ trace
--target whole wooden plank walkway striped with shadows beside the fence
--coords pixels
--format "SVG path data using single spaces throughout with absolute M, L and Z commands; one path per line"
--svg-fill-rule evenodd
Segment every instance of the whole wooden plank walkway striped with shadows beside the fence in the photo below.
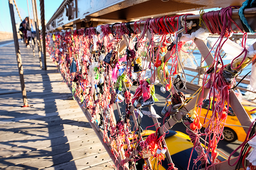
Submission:
M 109 170 L 112 161 L 52 60 L 47 71 L 20 43 L 23 105 L 14 44 L 0 47 L 0 169 Z M 47 57 L 49 58 L 49 57 Z M 110 162 L 110 163 L 109 163 Z

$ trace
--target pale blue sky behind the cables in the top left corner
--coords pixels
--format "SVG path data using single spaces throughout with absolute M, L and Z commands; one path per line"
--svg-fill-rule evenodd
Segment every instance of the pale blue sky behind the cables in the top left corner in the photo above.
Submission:
M 40 6 L 39 0 L 37 1 L 37 15 L 38 19 L 41 18 L 40 16 Z M 32 12 L 32 2 L 29 2 L 29 11 L 27 9 L 27 0 L 16 0 L 16 4 L 18 6 L 20 16 L 22 19 L 25 19 L 26 16 L 30 15 L 33 19 L 33 12 Z M 59 8 L 60 4 L 63 0 L 45 0 L 45 20 L 46 22 L 52 17 L 53 13 Z M 17 10 L 14 5 L 14 12 L 15 12 L 15 21 L 16 23 L 21 23 Z M 0 0 L 0 31 L 12 32 L 12 25 L 11 25 L 11 17 L 10 17 L 10 10 L 8 5 L 8 0 Z

